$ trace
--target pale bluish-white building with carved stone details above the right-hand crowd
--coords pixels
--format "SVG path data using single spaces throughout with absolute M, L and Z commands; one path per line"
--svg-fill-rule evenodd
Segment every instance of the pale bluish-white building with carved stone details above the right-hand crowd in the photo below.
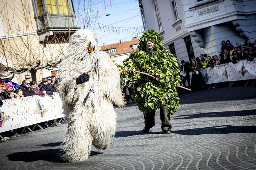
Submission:
M 145 30 L 181 60 L 218 55 L 221 41 L 234 46 L 256 39 L 256 0 L 139 0 Z

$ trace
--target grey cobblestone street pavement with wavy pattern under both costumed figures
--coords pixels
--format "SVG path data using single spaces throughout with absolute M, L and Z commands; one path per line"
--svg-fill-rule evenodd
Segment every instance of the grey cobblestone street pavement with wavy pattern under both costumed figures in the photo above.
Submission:
M 6 169 L 256 169 L 256 88 L 212 89 L 180 96 L 171 117 L 172 133 L 155 126 L 141 134 L 143 115 L 136 104 L 115 108 L 117 131 L 107 150 L 91 151 L 85 162 L 59 158 L 65 124 L 0 142 Z

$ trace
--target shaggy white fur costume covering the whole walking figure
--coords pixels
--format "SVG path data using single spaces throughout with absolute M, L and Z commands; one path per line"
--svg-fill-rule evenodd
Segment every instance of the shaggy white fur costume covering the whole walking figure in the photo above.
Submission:
M 94 53 L 88 53 L 88 43 Z M 76 78 L 83 73 L 90 75 L 89 81 L 76 85 Z M 97 149 L 108 148 L 116 131 L 113 103 L 124 106 L 125 101 L 119 70 L 108 54 L 99 50 L 96 32 L 78 30 L 70 37 L 55 84 L 67 119 L 64 158 L 69 162 L 84 161 L 92 144 Z

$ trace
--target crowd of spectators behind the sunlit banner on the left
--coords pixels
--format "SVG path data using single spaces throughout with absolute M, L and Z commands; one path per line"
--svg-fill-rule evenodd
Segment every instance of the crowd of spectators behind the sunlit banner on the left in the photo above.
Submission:
M 6 79 L 3 81 L 0 78 L 0 107 L 3 105 L 3 100 L 5 99 L 12 99 L 12 98 L 23 98 L 27 96 L 32 96 L 32 95 L 39 95 L 39 96 L 44 96 L 44 95 L 54 95 L 54 76 L 49 76 L 42 78 L 41 83 L 38 84 L 36 81 L 30 81 L 31 77 L 30 75 L 25 75 L 25 79 L 22 81 L 22 83 L 19 85 L 17 83 L 12 82 L 9 79 Z M 64 123 L 65 120 L 62 119 L 60 123 Z M 47 128 L 49 126 L 56 126 L 59 123 L 57 120 L 51 120 L 47 122 L 40 123 L 40 126 L 43 128 Z M 17 137 L 20 134 L 18 134 L 17 130 L 15 131 L 8 131 L 4 132 L 5 134 L 5 139 L 8 139 L 8 135 L 10 137 Z

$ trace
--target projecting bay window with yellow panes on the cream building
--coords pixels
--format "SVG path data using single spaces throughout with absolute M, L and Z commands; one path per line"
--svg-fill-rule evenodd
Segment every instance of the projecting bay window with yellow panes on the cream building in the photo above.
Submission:
M 52 37 L 67 38 L 76 32 L 76 18 L 71 0 L 32 0 L 37 35 L 40 41 Z

